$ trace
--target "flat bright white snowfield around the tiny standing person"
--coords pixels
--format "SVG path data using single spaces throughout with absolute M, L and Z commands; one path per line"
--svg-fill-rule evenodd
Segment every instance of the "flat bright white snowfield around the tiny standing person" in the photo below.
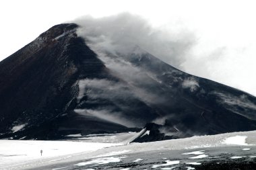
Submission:
M 42 140 L 0 140 L 0 169 L 8 169 L 25 162 L 60 161 L 79 153 L 120 144 Z M 40 151 L 42 150 L 42 156 Z M 13 166 L 14 165 L 14 166 Z

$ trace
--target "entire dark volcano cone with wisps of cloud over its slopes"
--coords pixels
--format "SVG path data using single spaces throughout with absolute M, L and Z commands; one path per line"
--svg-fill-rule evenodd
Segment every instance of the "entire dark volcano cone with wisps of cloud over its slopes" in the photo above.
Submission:
M 96 54 L 76 28 L 54 26 L 0 62 L 1 138 L 121 132 L 150 122 L 141 141 L 256 129 L 252 95 L 183 73 L 138 46 Z

